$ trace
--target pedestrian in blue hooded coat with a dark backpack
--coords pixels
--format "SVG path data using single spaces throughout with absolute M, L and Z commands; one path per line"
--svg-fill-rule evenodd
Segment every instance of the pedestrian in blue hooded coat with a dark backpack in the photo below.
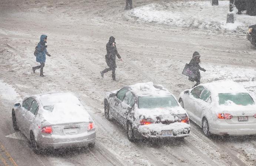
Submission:
M 46 60 L 46 55 L 47 56 L 51 56 L 48 52 L 47 52 L 47 35 L 41 35 L 40 37 L 40 42 L 37 44 L 36 47 L 36 61 L 40 63 L 39 66 L 36 67 L 32 67 L 33 73 L 36 72 L 37 69 L 40 68 L 40 76 L 44 77 L 43 75 L 43 68 L 44 68 L 44 63 Z

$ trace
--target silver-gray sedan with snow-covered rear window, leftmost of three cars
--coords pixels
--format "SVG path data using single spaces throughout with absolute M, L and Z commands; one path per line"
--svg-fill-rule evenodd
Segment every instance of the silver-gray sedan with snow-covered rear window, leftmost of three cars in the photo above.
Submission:
M 68 93 L 27 96 L 12 109 L 14 130 L 20 130 L 34 152 L 42 149 L 93 147 L 93 119 L 79 99 Z

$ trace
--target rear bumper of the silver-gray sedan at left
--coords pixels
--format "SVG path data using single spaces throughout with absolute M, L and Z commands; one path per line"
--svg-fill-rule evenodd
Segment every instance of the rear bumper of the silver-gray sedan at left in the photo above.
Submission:
M 77 135 L 41 135 L 37 140 L 40 148 L 73 148 L 89 146 L 95 143 L 96 132 L 91 131 Z

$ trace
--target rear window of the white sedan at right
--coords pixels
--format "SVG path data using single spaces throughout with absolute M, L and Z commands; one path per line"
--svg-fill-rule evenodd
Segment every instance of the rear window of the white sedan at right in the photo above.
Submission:
M 219 104 L 229 104 L 235 103 L 237 105 L 252 105 L 255 104 L 252 97 L 247 93 L 227 93 L 227 94 L 219 94 Z

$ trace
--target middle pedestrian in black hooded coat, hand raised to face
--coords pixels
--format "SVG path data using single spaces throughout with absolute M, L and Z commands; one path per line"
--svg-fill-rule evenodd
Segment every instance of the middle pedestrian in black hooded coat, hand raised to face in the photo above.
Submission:
M 104 69 L 103 71 L 100 72 L 100 75 L 102 76 L 102 78 L 104 77 L 104 73 L 111 71 L 112 70 L 112 79 L 114 81 L 116 81 L 116 56 L 122 61 L 121 56 L 119 55 L 119 53 L 117 52 L 116 49 L 116 42 L 115 42 L 115 38 L 113 36 L 110 36 L 109 38 L 109 42 L 106 44 L 106 50 L 107 50 L 107 54 L 105 55 L 105 59 L 107 62 L 107 66 L 109 68 Z

